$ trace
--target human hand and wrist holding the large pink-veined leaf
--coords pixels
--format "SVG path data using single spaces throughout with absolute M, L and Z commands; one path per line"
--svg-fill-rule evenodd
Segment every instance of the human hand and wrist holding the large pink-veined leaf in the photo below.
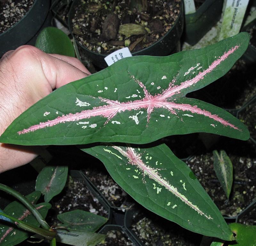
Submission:
M 54 88 L 88 75 L 90 72 L 78 59 L 46 54 L 29 45 L 4 54 L 0 60 L 0 135 Z M 39 149 L 0 143 L 0 173 L 33 160 Z

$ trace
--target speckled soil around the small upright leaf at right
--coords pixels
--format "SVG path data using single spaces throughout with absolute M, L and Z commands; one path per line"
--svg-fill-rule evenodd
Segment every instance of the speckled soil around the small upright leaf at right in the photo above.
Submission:
M 233 187 L 229 199 L 213 169 L 212 154 L 186 161 L 223 216 L 235 217 L 256 197 L 256 159 L 228 154 L 233 164 Z

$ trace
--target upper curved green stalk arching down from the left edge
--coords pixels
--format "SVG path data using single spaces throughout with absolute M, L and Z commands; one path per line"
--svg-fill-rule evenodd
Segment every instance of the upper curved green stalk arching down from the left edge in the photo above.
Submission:
M 36 220 L 39 222 L 39 224 L 45 229 L 45 230 L 49 230 L 50 226 L 47 224 L 47 222 L 44 220 L 44 217 L 41 215 L 41 213 L 39 213 L 36 209 L 36 207 L 30 203 L 30 201 L 23 196 L 22 194 L 20 194 L 20 192 L 12 189 L 11 187 L 8 187 L 7 185 L 4 184 L 0 184 L 0 190 L 3 190 L 9 194 L 11 194 L 13 197 L 17 198 L 21 203 L 23 203 L 23 205 L 25 205 L 28 210 L 30 210 L 34 216 L 36 217 Z

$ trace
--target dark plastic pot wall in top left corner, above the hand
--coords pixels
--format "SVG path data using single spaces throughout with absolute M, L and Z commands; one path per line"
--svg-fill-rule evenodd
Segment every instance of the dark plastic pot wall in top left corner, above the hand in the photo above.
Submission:
M 36 34 L 43 26 L 51 25 L 50 0 L 35 0 L 27 14 L 14 26 L 0 34 L 0 57 L 20 45 L 35 44 Z

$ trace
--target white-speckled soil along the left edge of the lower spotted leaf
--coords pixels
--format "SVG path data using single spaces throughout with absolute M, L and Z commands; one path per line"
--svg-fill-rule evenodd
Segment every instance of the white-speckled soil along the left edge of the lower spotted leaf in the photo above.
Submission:
M 127 208 L 134 202 L 108 173 L 94 169 L 86 169 L 83 172 L 113 206 Z

